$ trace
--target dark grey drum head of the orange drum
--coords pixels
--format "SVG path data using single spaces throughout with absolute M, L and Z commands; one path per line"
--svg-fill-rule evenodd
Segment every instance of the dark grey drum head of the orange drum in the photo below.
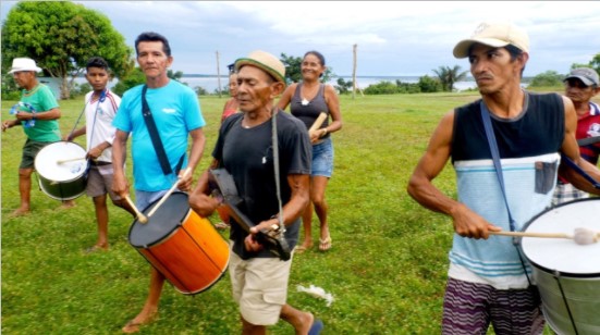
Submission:
M 161 198 L 150 203 L 142 212 L 147 216 L 147 213 Z M 189 213 L 187 199 L 187 194 L 174 191 L 152 216 L 148 218 L 147 223 L 135 220 L 130 229 L 130 244 L 136 248 L 147 248 L 171 235 L 173 231 L 181 226 Z

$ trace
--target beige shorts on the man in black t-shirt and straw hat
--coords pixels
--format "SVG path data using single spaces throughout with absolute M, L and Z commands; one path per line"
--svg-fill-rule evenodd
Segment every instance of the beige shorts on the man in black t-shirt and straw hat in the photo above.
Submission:
M 279 321 L 281 308 L 287 299 L 291 269 L 292 259 L 243 260 L 235 252 L 231 252 L 229 274 L 233 299 L 240 306 L 240 313 L 244 320 L 254 325 L 272 325 Z

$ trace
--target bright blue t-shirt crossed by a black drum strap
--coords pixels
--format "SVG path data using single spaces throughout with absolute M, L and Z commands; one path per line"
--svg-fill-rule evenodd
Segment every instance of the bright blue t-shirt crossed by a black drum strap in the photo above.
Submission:
M 176 175 L 164 175 L 152 146 L 146 122 L 142 115 L 142 87 L 131 88 L 123 95 L 112 125 L 132 134 L 134 187 L 136 190 L 159 191 L 169 189 Z M 148 88 L 146 101 L 158 128 L 160 139 L 173 172 L 182 157 L 182 169 L 187 166 L 187 139 L 191 131 L 206 125 L 198 97 L 192 88 L 170 80 L 163 87 Z

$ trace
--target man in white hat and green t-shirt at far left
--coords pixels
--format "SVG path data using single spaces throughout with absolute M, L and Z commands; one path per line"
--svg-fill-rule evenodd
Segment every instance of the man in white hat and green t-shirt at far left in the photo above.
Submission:
M 21 206 L 11 214 L 12 216 L 28 214 L 30 211 L 32 173 L 36 154 L 47 145 L 61 139 L 58 122 L 61 116 L 59 103 L 50 88 L 37 80 L 37 72 L 41 72 L 41 69 L 29 58 L 15 58 L 9 71 L 23 91 L 20 103 L 13 107 L 15 119 L 4 121 L 2 132 L 14 126 L 23 126 L 27 135 L 19 166 Z M 73 200 L 63 201 L 64 207 L 73 204 Z

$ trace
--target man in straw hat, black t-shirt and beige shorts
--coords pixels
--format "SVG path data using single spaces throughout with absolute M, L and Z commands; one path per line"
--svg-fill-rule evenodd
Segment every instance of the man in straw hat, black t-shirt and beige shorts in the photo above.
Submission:
M 248 234 L 243 222 L 231 219 L 229 273 L 233 298 L 240 306 L 242 333 L 265 334 L 268 325 L 283 319 L 295 334 L 319 334 L 323 326 L 320 320 L 286 303 L 292 260 L 278 258 L 257 241 L 259 231 L 278 227 L 290 249 L 297 244 L 299 218 L 309 200 L 310 139 L 304 124 L 273 102 L 285 88 L 285 66 L 280 60 L 255 51 L 238 59 L 235 70 L 242 113 L 223 122 L 210 169 L 222 167 L 231 173 L 244 199 L 244 213 L 257 224 Z M 272 135 L 273 128 L 277 136 Z M 273 137 L 279 144 L 275 152 Z M 208 179 L 209 171 L 189 197 L 192 209 L 203 216 L 219 206 L 209 197 Z

